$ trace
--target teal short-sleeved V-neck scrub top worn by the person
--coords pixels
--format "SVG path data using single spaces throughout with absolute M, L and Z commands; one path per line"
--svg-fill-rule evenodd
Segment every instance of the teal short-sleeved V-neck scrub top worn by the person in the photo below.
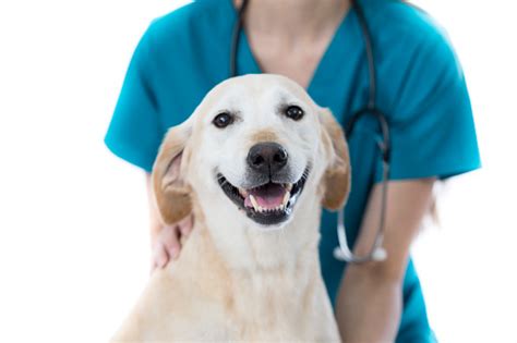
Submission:
M 417 8 L 400 1 L 362 0 L 373 39 L 376 103 L 392 132 L 390 180 L 449 177 L 480 167 L 470 100 L 446 34 Z M 167 128 L 183 122 L 205 94 L 229 77 L 231 0 L 199 0 L 149 25 L 136 47 L 105 142 L 122 159 L 151 172 Z M 286 57 L 288 58 L 288 57 Z M 245 33 L 238 49 L 240 75 L 261 73 Z M 350 10 L 337 28 L 308 88 L 346 123 L 366 103 L 364 41 Z M 362 119 L 349 138 L 352 187 L 347 235 L 354 242 L 372 185 L 382 180 L 375 122 Z M 322 273 L 333 304 L 346 264 L 333 257 L 336 215 L 321 222 Z M 432 342 L 412 261 L 404 280 L 397 342 Z

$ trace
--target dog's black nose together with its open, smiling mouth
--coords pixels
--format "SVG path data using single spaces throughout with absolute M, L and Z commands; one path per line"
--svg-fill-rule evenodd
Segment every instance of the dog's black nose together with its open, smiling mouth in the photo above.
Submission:
M 273 225 L 286 221 L 303 189 L 309 168 L 292 182 L 289 155 L 277 143 L 254 145 L 247 157 L 248 172 L 243 186 L 235 186 L 223 175 L 217 180 L 225 194 L 253 221 Z

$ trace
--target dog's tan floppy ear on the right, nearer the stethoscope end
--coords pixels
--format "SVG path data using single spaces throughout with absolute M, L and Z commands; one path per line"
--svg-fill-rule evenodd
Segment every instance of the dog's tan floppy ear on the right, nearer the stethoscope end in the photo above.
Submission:
M 341 126 L 328 109 L 321 109 L 322 140 L 328 157 L 323 175 L 322 205 L 329 210 L 340 209 L 350 192 L 350 160 Z

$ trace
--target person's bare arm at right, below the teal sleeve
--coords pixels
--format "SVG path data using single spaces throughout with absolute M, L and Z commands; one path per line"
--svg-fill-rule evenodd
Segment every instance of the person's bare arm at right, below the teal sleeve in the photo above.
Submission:
M 432 203 L 435 179 L 388 183 L 385 261 L 349 265 L 339 289 L 336 318 L 345 343 L 394 342 L 402 311 L 409 247 Z M 369 199 L 353 252 L 366 254 L 378 228 L 382 184 Z

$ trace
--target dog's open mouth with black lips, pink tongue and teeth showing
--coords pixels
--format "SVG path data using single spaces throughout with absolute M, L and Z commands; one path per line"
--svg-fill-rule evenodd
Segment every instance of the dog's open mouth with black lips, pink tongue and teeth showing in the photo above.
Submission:
M 225 194 L 255 222 L 272 225 L 287 220 L 305 184 L 309 170 L 296 183 L 269 181 L 261 186 L 244 189 L 236 187 L 223 174 L 217 175 Z

